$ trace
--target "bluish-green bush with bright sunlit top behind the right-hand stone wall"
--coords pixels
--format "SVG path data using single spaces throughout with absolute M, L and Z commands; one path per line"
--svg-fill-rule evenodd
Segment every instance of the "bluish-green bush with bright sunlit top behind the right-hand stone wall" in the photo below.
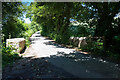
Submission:
M 74 37 L 84 37 L 84 36 L 93 36 L 94 27 L 90 27 L 88 23 L 78 22 L 77 24 L 72 23 L 69 27 L 70 36 Z

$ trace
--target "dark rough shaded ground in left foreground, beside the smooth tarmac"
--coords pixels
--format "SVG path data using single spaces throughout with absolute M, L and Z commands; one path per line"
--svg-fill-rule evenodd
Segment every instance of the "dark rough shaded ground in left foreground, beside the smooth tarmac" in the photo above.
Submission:
M 52 65 L 45 58 L 23 58 L 3 70 L 3 80 L 39 78 L 75 78 L 65 70 Z

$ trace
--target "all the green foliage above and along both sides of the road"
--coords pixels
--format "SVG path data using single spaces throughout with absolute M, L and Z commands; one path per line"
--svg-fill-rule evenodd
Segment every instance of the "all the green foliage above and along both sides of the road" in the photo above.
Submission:
M 69 44 L 71 36 L 100 36 L 104 37 L 103 42 L 90 42 L 82 50 L 105 56 L 120 52 L 120 18 L 115 18 L 120 12 L 119 3 L 34 2 L 29 6 L 25 3 L 3 3 L 2 6 L 3 41 L 24 37 L 29 46 L 29 37 L 36 31 L 61 44 Z M 23 14 L 31 19 L 31 24 L 24 23 Z M 74 25 L 76 22 L 78 25 Z

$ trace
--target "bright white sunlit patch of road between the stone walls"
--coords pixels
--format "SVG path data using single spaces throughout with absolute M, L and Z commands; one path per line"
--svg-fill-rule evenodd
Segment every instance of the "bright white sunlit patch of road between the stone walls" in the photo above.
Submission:
M 66 54 L 69 54 L 75 51 L 74 49 L 68 49 L 59 44 L 56 44 L 55 41 L 46 39 L 45 37 L 30 37 L 30 40 L 32 43 L 30 50 L 35 52 L 35 56 L 37 57 L 56 55 L 57 52 L 65 52 Z M 25 53 L 28 53 L 29 55 L 30 51 L 26 50 Z

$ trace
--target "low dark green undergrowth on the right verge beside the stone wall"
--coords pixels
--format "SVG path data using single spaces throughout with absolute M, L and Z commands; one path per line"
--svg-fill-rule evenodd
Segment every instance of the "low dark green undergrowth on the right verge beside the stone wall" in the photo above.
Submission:
M 86 46 L 81 48 L 82 51 L 91 52 L 92 55 L 99 56 L 99 57 L 105 57 L 112 60 L 120 60 L 120 54 L 119 53 L 113 53 L 112 48 L 108 50 L 104 50 L 103 48 L 103 42 L 89 42 Z

